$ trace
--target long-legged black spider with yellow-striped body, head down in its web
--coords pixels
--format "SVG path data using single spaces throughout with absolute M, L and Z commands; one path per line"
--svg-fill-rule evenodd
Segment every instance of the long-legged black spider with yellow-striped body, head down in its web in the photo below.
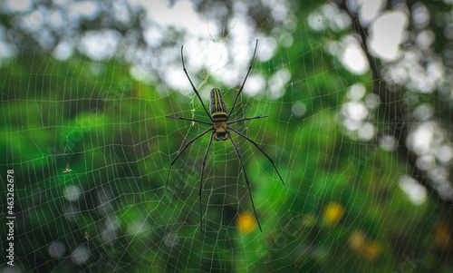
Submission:
M 184 45 L 181 46 L 182 68 L 183 68 L 184 73 L 186 73 L 186 75 L 188 76 L 188 72 L 187 72 L 186 66 L 184 64 L 184 56 L 182 54 L 183 46 Z M 244 171 L 244 177 L 246 178 L 246 185 L 247 185 L 248 193 L 250 195 L 252 208 L 253 208 L 254 213 L 255 213 L 255 219 L 256 219 L 256 222 L 258 223 L 258 227 L 259 227 L 261 232 L 263 232 L 263 229 L 261 229 L 261 225 L 259 223 L 258 216 L 256 215 L 255 204 L 254 204 L 254 200 L 252 198 L 252 192 L 250 190 L 250 184 L 248 183 L 246 169 L 244 168 L 244 162 L 242 161 L 241 154 L 240 154 L 239 150 L 237 149 L 236 143 L 235 143 L 235 141 L 233 141 L 233 138 L 231 137 L 231 133 L 229 131 L 231 130 L 232 132 L 235 132 L 237 135 L 245 138 L 247 141 L 253 143 L 255 145 L 255 147 L 259 151 L 263 152 L 265 154 L 265 156 L 267 157 L 267 159 L 274 166 L 274 169 L 277 172 L 278 177 L 280 178 L 280 180 L 282 180 L 282 183 L 284 184 L 284 180 L 282 179 L 282 176 L 280 175 L 280 173 L 277 171 L 277 168 L 275 167 L 274 161 L 272 161 L 272 159 L 265 153 L 265 151 L 263 151 L 258 146 L 258 144 L 256 144 L 255 141 L 251 140 L 246 135 L 244 135 L 244 134 L 242 134 L 240 132 L 237 132 L 236 129 L 231 128 L 229 126 L 229 125 L 231 125 L 233 123 L 236 123 L 236 122 L 245 122 L 245 121 L 249 121 L 249 120 L 261 119 L 261 118 L 265 118 L 267 116 L 256 116 L 256 117 L 253 117 L 253 118 L 243 118 L 243 119 L 239 119 L 239 120 L 236 120 L 236 121 L 233 121 L 233 122 L 228 122 L 228 118 L 230 117 L 231 113 L 235 109 L 237 98 L 242 93 L 242 90 L 244 88 L 244 84 L 246 83 L 246 79 L 247 79 L 248 73 L 250 73 L 250 70 L 252 70 L 252 65 L 254 63 L 255 54 L 256 54 L 256 48 L 257 47 L 258 47 L 258 39 L 256 39 L 255 52 L 253 54 L 250 66 L 248 67 L 248 71 L 246 73 L 246 78 L 244 79 L 244 82 L 242 83 L 242 85 L 241 85 L 241 87 L 239 89 L 239 92 L 236 95 L 235 102 L 233 102 L 233 106 L 231 107 L 231 110 L 230 110 L 229 113 L 227 113 L 227 111 L 226 111 L 226 103 L 225 103 L 224 97 L 222 96 L 222 93 L 217 88 L 213 88 L 211 90 L 210 97 L 209 97 L 209 99 L 210 99 L 209 100 L 209 112 L 210 112 L 210 114 L 209 114 L 209 112 L 207 112 L 205 104 L 201 100 L 201 97 L 200 97 L 200 95 L 199 95 L 199 93 L 197 91 L 197 88 L 195 88 L 194 84 L 190 80 L 190 77 L 188 76 L 188 82 L 190 82 L 190 85 L 192 85 L 192 88 L 193 88 L 194 92 L 197 94 L 198 99 L 201 102 L 201 105 L 203 106 L 203 108 L 205 109 L 205 112 L 207 113 L 207 117 L 211 120 L 211 122 L 203 122 L 203 121 L 199 121 L 199 120 L 195 120 L 195 119 L 187 119 L 187 118 L 182 118 L 182 117 L 165 116 L 165 117 L 171 118 L 171 119 L 178 119 L 178 120 L 184 120 L 184 121 L 189 121 L 189 122 L 199 122 L 201 124 L 206 124 L 206 125 L 211 126 L 210 128 L 207 129 L 207 131 L 200 133 L 197 137 L 195 137 L 191 141 L 188 141 L 186 143 L 186 145 L 184 146 L 184 148 L 182 148 L 182 150 L 178 152 L 177 156 L 173 159 L 173 161 L 171 161 L 170 167 L 169 167 L 169 175 L 170 175 L 171 168 L 173 167 L 173 164 L 175 163 L 175 161 L 178 159 L 179 155 L 181 155 L 181 153 L 183 151 L 185 151 L 188 148 L 188 146 L 190 144 L 192 144 L 194 141 L 197 141 L 200 137 L 202 137 L 205 134 L 207 134 L 207 132 L 211 132 L 212 131 L 211 132 L 211 136 L 209 137 L 209 143 L 207 144 L 207 150 L 206 150 L 206 153 L 205 153 L 205 157 L 203 158 L 203 163 L 201 165 L 201 178 L 200 178 L 200 181 L 199 181 L 198 199 L 199 199 L 200 230 L 201 230 L 201 232 L 203 232 L 203 217 L 202 217 L 202 210 L 201 210 L 201 190 L 202 190 L 202 183 L 203 183 L 203 174 L 204 174 L 204 171 L 205 171 L 205 164 L 206 164 L 206 160 L 207 160 L 207 152 L 209 151 L 209 148 L 211 147 L 211 143 L 212 143 L 213 139 L 216 140 L 216 141 L 226 141 L 226 140 L 229 139 L 231 141 L 231 144 L 233 144 L 233 148 L 236 151 L 237 158 L 239 159 L 239 161 L 241 163 L 242 171 Z M 165 183 L 165 192 L 167 192 L 167 185 L 169 183 L 169 175 L 168 175 L 167 181 Z

